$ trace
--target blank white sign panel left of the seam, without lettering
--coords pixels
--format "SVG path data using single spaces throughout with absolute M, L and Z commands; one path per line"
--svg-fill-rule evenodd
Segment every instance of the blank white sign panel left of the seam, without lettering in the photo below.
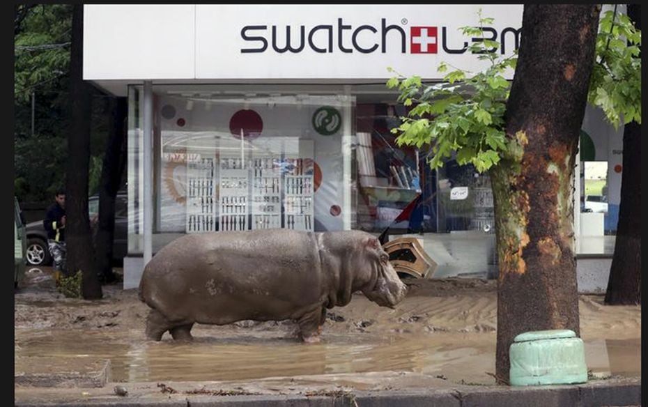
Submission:
M 196 6 L 84 5 L 84 79 L 194 79 Z

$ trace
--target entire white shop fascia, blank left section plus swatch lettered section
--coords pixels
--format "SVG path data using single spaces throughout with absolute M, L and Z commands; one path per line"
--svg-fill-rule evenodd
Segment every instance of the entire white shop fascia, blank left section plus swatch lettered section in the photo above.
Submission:
M 518 47 L 523 6 L 498 4 L 88 4 L 84 79 L 438 79 L 445 61 L 484 68 L 463 36 Z M 512 78 L 510 72 L 509 78 Z

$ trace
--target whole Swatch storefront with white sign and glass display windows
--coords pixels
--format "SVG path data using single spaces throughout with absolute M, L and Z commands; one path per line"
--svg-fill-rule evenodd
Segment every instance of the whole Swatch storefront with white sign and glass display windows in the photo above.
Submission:
M 405 111 L 385 82 L 387 67 L 431 82 L 441 61 L 481 69 L 466 50 L 481 39 L 458 30 L 479 8 L 512 54 L 523 6 L 84 8 L 84 79 L 129 100 L 125 288 L 185 233 L 378 235 L 419 194 L 402 231 L 437 263 L 430 277 L 496 275 L 488 176 L 454 160 L 431 171 L 429 151 L 396 146 L 389 130 Z M 586 123 L 591 139 L 617 137 L 589 109 Z M 613 202 L 619 187 L 607 191 Z

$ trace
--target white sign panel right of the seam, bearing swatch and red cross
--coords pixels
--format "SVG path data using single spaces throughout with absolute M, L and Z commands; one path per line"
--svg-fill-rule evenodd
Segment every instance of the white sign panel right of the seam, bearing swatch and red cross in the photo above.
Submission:
M 465 48 L 481 38 L 459 27 L 477 25 L 477 10 L 494 17 L 486 38 L 511 54 L 523 6 L 511 5 L 211 5 L 196 6 L 196 77 L 387 78 L 439 77 L 447 61 L 486 66 Z M 219 45 L 215 46 L 215 39 Z

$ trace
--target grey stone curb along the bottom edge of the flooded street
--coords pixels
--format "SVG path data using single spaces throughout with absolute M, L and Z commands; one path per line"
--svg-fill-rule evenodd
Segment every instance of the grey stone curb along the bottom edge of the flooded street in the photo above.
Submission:
M 585 385 L 529 387 L 475 386 L 468 389 L 382 390 L 304 394 L 205 396 L 154 394 L 138 397 L 100 397 L 75 401 L 17 401 L 15 406 L 111 407 L 596 407 L 640 406 L 641 378 L 591 381 Z

